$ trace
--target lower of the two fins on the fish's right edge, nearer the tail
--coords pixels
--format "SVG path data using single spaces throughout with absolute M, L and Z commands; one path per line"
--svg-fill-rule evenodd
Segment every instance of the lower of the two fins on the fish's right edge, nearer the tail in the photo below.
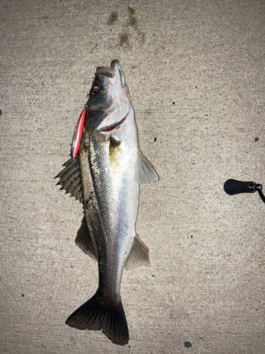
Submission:
M 130 270 L 144 265 L 150 267 L 149 249 L 138 235 L 134 236 L 129 256 L 126 258 L 125 269 Z

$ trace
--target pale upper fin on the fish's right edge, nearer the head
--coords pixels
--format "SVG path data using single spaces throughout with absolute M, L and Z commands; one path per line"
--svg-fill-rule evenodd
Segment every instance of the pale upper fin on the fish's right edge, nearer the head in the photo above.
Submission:
M 158 173 L 156 173 L 151 162 L 141 152 L 137 152 L 136 181 L 138 183 L 149 183 L 158 181 L 158 179 Z

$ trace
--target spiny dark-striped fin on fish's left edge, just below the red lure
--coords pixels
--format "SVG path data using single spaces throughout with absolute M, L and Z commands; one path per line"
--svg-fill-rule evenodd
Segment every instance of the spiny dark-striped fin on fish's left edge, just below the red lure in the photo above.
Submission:
M 57 185 L 61 185 L 61 190 L 70 193 L 71 197 L 76 198 L 79 202 L 83 202 L 83 189 L 81 183 L 81 173 L 78 165 L 78 160 L 75 164 L 71 164 L 71 159 L 63 165 L 64 169 L 54 178 L 60 178 Z

